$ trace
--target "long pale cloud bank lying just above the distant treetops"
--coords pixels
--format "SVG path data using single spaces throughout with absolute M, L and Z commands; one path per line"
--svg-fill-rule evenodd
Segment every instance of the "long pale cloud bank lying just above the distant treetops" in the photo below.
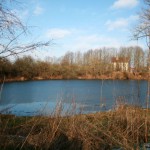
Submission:
M 86 52 L 89 49 L 99 49 L 103 47 L 107 48 L 119 48 L 121 46 L 136 46 L 136 41 L 129 41 L 124 38 L 117 38 L 106 35 L 81 35 L 76 37 L 73 41 L 67 42 L 61 47 L 61 51 L 58 51 L 59 55 L 65 54 L 68 50 L 72 52 Z M 139 46 L 143 46 L 141 43 Z

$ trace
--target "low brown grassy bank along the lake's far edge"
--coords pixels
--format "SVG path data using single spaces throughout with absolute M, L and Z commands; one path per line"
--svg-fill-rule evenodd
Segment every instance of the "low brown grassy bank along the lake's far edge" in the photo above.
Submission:
M 100 76 L 78 76 L 78 77 L 71 77 L 71 76 L 49 76 L 49 77 L 33 77 L 33 78 L 26 78 L 26 77 L 6 77 L 4 79 L 0 79 L 0 83 L 2 82 L 16 82 L 16 81 L 39 81 L 39 80 L 149 80 L 149 75 L 140 75 L 140 74 L 133 74 L 129 72 L 113 72 L 109 75 L 100 75 Z

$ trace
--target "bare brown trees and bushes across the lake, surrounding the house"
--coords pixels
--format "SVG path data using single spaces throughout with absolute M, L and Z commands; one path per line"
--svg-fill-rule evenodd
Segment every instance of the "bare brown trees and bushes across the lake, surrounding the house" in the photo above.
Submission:
M 31 56 L 17 58 L 15 61 L 0 59 L 0 79 L 87 79 L 112 77 L 114 70 L 112 57 L 129 58 L 129 68 L 138 75 L 146 76 L 150 60 L 148 50 L 141 47 L 100 48 L 81 52 L 67 52 L 60 58 L 47 57 L 45 60 Z M 130 70 L 124 72 L 124 75 Z

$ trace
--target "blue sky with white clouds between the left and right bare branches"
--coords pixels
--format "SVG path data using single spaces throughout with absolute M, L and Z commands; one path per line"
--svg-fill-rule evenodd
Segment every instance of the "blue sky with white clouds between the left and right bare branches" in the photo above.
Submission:
M 15 8 L 31 26 L 30 40 L 53 39 L 36 56 L 60 57 L 67 51 L 136 45 L 131 29 L 138 21 L 142 0 L 22 0 Z M 138 44 L 144 47 L 143 42 Z

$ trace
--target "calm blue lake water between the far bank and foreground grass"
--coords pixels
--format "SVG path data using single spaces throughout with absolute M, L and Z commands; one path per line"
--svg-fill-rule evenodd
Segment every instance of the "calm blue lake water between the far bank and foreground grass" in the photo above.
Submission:
M 146 106 L 147 81 L 44 80 L 5 83 L 0 111 L 18 116 L 108 111 L 120 103 Z

